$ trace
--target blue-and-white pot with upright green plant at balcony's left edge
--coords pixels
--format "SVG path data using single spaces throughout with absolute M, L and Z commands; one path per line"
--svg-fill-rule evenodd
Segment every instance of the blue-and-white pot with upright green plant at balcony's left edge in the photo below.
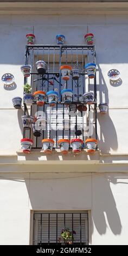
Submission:
M 31 106 L 33 104 L 33 100 L 34 100 L 34 96 L 30 92 L 31 92 L 30 84 L 28 84 L 28 83 L 24 84 L 23 100 L 27 106 Z

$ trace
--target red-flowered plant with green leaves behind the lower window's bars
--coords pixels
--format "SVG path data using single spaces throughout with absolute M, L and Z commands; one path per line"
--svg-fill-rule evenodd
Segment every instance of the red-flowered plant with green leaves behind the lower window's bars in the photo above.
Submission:
M 75 230 L 70 231 L 69 228 L 62 229 L 61 237 L 58 238 L 58 241 L 59 242 L 63 241 L 65 243 L 69 243 L 69 245 L 71 245 L 74 241 L 75 234 L 76 234 Z

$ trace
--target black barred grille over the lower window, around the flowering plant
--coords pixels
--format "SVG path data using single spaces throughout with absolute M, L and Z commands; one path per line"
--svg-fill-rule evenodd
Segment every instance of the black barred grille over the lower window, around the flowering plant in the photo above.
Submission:
M 63 239 L 62 232 L 70 238 Z M 35 212 L 33 245 L 88 245 L 88 212 Z

